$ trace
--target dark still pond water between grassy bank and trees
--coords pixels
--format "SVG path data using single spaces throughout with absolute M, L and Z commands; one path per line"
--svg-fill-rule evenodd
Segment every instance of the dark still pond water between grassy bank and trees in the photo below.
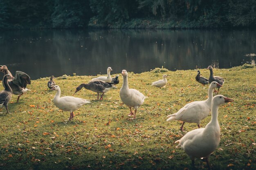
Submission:
M 0 32 L 0 65 L 32 79 L 46 76 L 112 74 L 219 68 L 255 60 L 252 30 L 43 30 Z M 248 56 L 251 54 L 251 56 Z M 196 74 L 196 73 L 195 73 Z M 0 75 L 2 78 L 2 75 Z

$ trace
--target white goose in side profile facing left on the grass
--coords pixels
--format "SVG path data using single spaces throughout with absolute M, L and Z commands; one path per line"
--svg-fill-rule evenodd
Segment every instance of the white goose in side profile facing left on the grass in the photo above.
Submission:
M 86 100 L 83 98 L 77 98 L 72 96 L 61 96 L 61 88 L 58 85 L 52 87 L 51 90 L 56 90 L 57 93 L 53 98 L 53 103 L 56 107 L 63 111 L 70 111 L 70 118 L 71 121 L 74 117 L 74 111 L 85 105 L 86 103 L 90 103 L 90 100 Z

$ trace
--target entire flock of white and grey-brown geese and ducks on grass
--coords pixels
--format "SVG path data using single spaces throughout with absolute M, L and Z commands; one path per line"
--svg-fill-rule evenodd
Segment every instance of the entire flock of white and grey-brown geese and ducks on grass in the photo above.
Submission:
M 185 150 L 185 152 L 192 160 L 193 166 L 195 158 L 204 157 L 207 162 L 207 166 L 210 167 L 208 158 L 220 143 L 218 107 L 225 102 L 233 102 L 234 100 L 222 95 L 216 95 L 213 97 L 213 90 L 215 92 L 215 88 L 218 88 L 219 91 L 219 88 L 222 87 L 224 83 L 224 79 L 219 76 L 213 76 L 212 66 L 209 66 L 207 69 L 210 70 L 209 79 L 202 77 L 199 70 L 197 76 L 195 77 L 195 80 L 202 85 L 210 84 L 207 100 L 194 101 L 186 104 L 179 111 L 177 111 L 177 113 L 168 115 L 168 119 L 166 121 L 182 121 L 183 123 L 180 127 L 181 131 L 184 131 L 183 126 L 185 122 L 196 123 L 198 125 L 198 129 L 186 133 L 180 140 L 176 141 L 179 142 L 177 147 L 181 147 L 183 150 Z M 9 113 L 8 102 L 11 100 L 12 94 L 18 95 L 18 102 L 20 96 L 29 90 L 26 88 L 26 86 L 27 84 L 31 83 L 31 80 L 27 74 L 19 71 L 17 71 L 15 77 L 13 77 L 5 65 L 0 66 L 0 71 L 4 73 L 4 78 L 2 80 L 4 90 L 0 92 L 0 107 L 5 107 L 7 113 Z M 75 93 L 79 92 L 84 87 L 85 89 L 91 90 L 92 92 L 96 92 L 98 94 L 97 99 L 99 99 L 99 93 L 101 93 L 100 100 L 103 100 L 103 95 L 110 89 L 117 88 L 115 85 L 119 83 L 119 76 L 112 78 L 110 75 L 111 71 L 112 69 L 109 67 L 107 69 L 107 76 L 99 76 L 97 78 L 93 78 L 88 83 L 82 83 L 76 87 Z M 137 109 L 148 97 L 144 96 L 144 94 L 136 89 L 129 88 L 128 72 L 126 70 L 122 70 L 121 75 L 123 76 L 123 85 L 120 89 L 119 95 L 122 102 L 124 102 L 124 104 L 130 108 L 130 113 L 128 116 L 133 116 L 135 119 Z M 163 79 L 153 82 L 152 86 L 159 88 L 164 87 L 167 84 L 167 77 L 168 76 L 164 74 Z M 47 83 L 47 86 L 50 90 L 57 91 L 53 99 L 54 105 L 63 111 L 69 111 L 69 120 L 72 120 L 74 117 L 74 111 L 83 105 L 90 103 L 90 101 L 73 96 L 61 97 L 61 89 L 58 85 L 55 84 L 54 78 L 54 76 L 51 76 L 50 81 Z M 134 111 L 132 111 L 132 108 L 134 108 Z M 205 126 L 205 128 L 200 128 L 200 121 L 206 118 L 210 112 L 211 121 Z

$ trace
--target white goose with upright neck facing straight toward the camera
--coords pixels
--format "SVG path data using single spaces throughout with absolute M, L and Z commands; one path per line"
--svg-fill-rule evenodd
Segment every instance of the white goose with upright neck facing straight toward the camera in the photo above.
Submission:
M 136 89 L 129 89 L 128 87 L 128 73 L 126 70 L 122 70 L 122 76 L 124 79 L 123 85 L 120 89 L 119 95 L 124 102 L 125 105 L 127 105 L 130 108 L 130 114 L 128 116 L 136 116 L 137 109 L 144 103 L 144 100 L 148 97 L 144 96 L 141 92 L 139 92 Z M 131 108 L 135 109 L 135 112 L 132 112 Z

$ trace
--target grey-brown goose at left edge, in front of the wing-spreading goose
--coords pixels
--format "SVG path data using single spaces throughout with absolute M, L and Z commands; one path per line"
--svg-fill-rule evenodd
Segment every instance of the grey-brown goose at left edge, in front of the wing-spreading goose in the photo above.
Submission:
M 11 96 L 12 96 L 12 90 L 8 84 L 8 80 L 11 78 L 14 78 L 14 77 L 9 74 L 4 75 L 4 78 L 2 80 L 4 83 L 4 90 L 0 92 L 0 107 L 5 107 L 7 113 L 9 113 L 8 103 L 11 100 Z

